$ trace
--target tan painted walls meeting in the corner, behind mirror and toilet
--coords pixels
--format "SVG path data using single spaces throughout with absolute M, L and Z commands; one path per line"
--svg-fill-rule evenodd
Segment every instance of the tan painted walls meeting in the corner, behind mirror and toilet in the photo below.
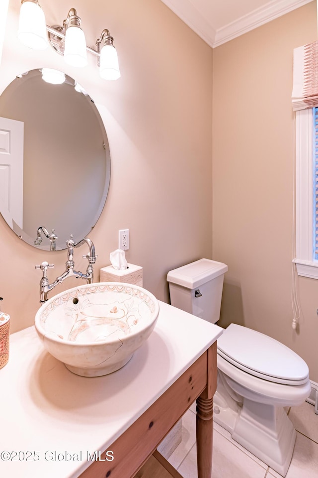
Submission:
M 87 44 L 103 28 L 115 37 L 122 78 L 99 79 L 95 61 L 72 69 L 51 49 L 29 52 L 15 39 L 18 2 L 10 1 L 0 90 L 14 75 L 53 66 L 79 80 L 102 106 L 112 157 L 106 207 L 90 234 L 98 269 L 130 229 L 129 262 L 144 286 L 168 301 L 166 272 L 199 257 L 229 265 L 220 325 L 242 323 L 275 337 L 307 360 L 318 381 L 318 281 L 300 278 L 300 331 L 291 328 L 293 203 L 293 48 L 317 39 L 316 2 L 213 51 L 159 0 L 42 0 L 47 22 L 69 6 L 82 17 Z M 213 171 L 212 171 L 213 82 Z M 256 120 L 257 119 L 257 120 Z M 230 222 L 230 220 L 232 220 Z M 64 270 L 66 253 L 21 242 L 0 217 L 1 309 L 11 331 L 33 323 L 40 273 Z M 79 268 L 86 264 L 78 251 Z M 65 282 L 63 289 L 78 282 Z

